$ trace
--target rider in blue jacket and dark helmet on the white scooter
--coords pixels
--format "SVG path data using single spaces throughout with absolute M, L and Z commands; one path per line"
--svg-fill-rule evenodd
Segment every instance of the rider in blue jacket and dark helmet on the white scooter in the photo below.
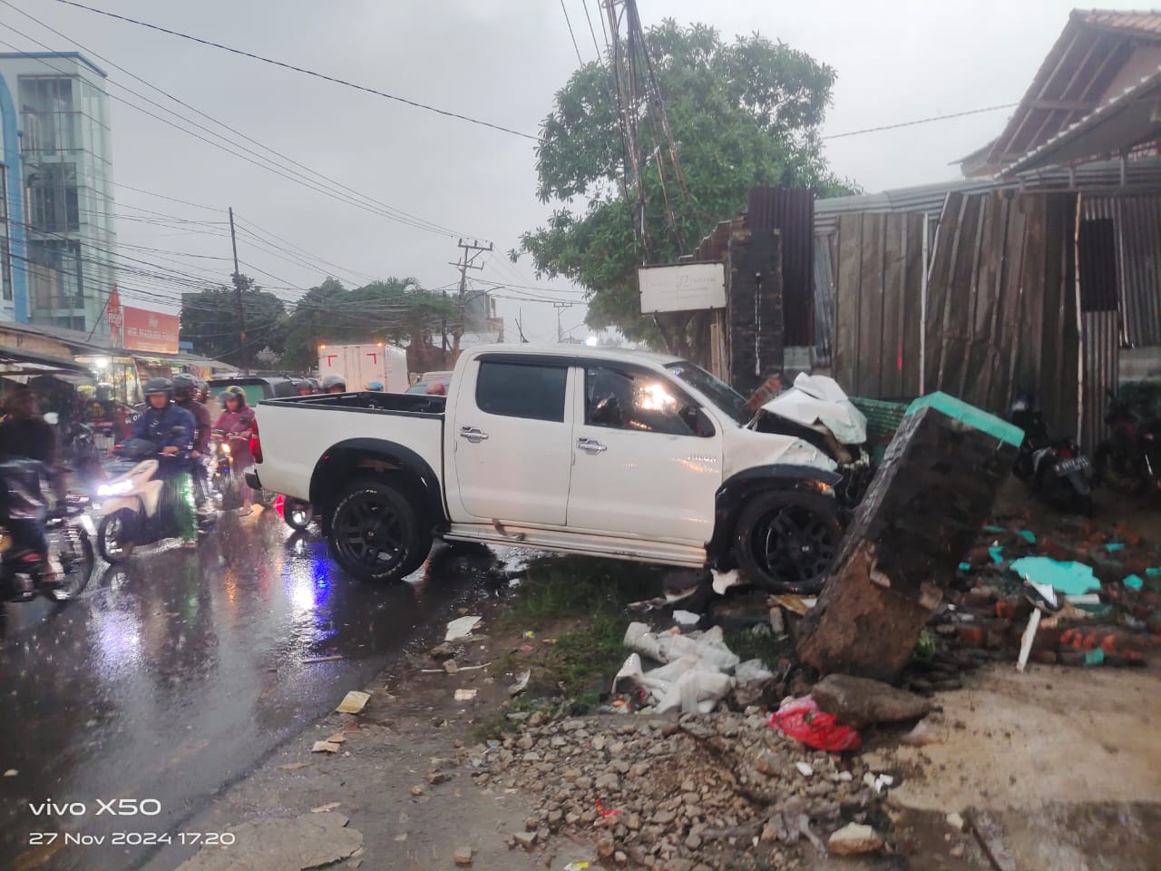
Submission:
M 179 535 L 185 547 L 197 546 L 194 519 L 193 461 L 197 422 L 186 409 L 173 402 L 173 382 L 156 377 L 145 382 L 145 412 L 134 422 L 130 437 L 151 441 L 161 454 L 158 477 L 166 482 L 173 499 Z

